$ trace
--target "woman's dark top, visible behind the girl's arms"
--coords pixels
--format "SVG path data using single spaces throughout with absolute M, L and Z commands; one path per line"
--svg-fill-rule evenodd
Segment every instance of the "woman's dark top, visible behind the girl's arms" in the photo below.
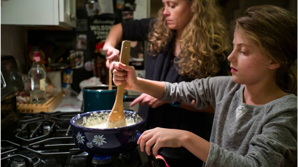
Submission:
M 123 22 L 123 38 L 131 41 L 148 40 L 148 33 L 152 27 L 150 21 L 152 18 Z M 167 43 L 164 50 L 151 56 L 148 52 L 145 61 L 145 78 L 154 81 L 167 81 L 170 83 L 179 83 L 182 81 L 191 81 L 193 79 L 187 76 L 179 75 L 178 65 L 173 62 L 174 39 Z M 221 70 L 223 71 L 223 70 Z M 170 129 L 187 130 L 209 141 L 213 114 L 189 111 L 179 107 L 172 107 L 170 104 L 164 104 L 157 108 L 140 106 L 139 113 L 146 117 L 146 129 L 163 127 Z M 184 147 L 164 148 L 161 155 L 180 160 L 199 160 Z

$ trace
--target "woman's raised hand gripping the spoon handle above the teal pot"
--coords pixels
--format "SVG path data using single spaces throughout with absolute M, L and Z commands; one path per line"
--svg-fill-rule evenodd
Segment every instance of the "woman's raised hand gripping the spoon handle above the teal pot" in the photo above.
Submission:
M 105 66 L 110 70 L 113 70 L 113 63 L 119 61 L 119 50 L 109 44 L 105 44 L 103 45 L 103 51 L 105 52 L 105 57 L 107 59 Z

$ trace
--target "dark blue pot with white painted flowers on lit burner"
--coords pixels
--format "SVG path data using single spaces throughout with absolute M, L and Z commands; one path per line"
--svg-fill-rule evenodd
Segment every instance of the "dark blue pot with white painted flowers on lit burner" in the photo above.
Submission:
M 110 113 L 110 111 L 92 111 L 78 114 L 70 120 L 72 138 L 81 150 L 89 154 L 113 155 L 130 151 L 138 146 L 136 142 L 144 132 L 145 117 L 134 111 L 124 111 L 126 118 L 132 118 L 138 122 L 134 125 L 105 129 L 84 127 L 84 118 L 87 119 L 94 113 Z

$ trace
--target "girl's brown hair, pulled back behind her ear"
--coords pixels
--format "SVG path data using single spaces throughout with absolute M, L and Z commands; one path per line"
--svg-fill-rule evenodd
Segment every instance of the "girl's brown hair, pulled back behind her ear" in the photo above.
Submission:
M 297 96 L 297 18 L 282 7 L 250 7 L 236 19 L 235 31 L 258 45 L 280 67 L 276 83 L 283 91 Z

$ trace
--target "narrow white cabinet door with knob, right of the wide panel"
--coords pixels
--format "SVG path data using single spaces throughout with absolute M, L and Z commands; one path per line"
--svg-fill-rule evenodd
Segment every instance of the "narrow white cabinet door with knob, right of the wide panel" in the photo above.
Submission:
M 66 26 L 76 27 L 76 1 L 59 0 L 59 21 Z

